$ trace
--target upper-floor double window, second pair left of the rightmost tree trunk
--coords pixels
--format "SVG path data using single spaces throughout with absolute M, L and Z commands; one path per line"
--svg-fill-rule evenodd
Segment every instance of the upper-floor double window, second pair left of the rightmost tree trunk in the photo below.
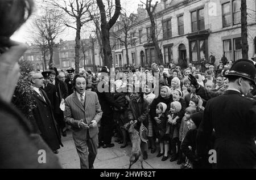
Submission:
M 204 27 L 204 9 L 191 12 L 192 32 L 203 30 Z

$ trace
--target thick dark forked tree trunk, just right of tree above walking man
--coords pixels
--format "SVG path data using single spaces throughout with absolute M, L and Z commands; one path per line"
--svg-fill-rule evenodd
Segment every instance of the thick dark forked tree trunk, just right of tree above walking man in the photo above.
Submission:
M 110 6 L 110 1 L 109 6 Z M 103 53 L 104 53 L 104 65 L 108 66 L 109 68 L 112 67 L 112 52 L 110 47 L 110 40 L 109 40 L 109 31 L 117 22 L 121 11 L 121 4 L 120 0 L 115 0 L 115 11 L 114 15 L 112 16 L 112 11 L 109 11 L 109 21 L 107 22 L 106 10 L 105 5 L 102 0 L 97 0 L 98 8 L 100 9 L 100 16 L 101 16 L 101 33 L 102 33 L 102 45 L 103 45 Z M 109 7 L 110 9 L 110 7 Z

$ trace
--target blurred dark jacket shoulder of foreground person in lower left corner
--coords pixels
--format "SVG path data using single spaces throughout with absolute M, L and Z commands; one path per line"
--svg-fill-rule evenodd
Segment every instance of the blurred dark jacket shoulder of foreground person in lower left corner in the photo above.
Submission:
M 0 107 L 0 169 L 61 168 L 42 137 L 32 134 L 28 119 L 1 98 Z M 46 163 L 38 162 L 40 149 L 46 151 Z

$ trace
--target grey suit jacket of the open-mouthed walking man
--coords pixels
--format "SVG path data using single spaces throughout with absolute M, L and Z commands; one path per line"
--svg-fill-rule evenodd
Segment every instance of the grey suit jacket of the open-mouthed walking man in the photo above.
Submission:
M 65 99 L 64 118 L 68 125 L 72 126 L 73 138 L 77 140 L 86 140 L 88 130 L 86 128 L 79 128 L 78 122 L 83 119 L 84 123 L 90 124 L 93 120 L 97 123 L 102 117 L 102 110 L 98 96 L 95 92 L 85 92 L 85 106 L 83 107 L 79 98 L 74 92 Z M 98 127 L 89 128 L 89 136 L 93 138 L 98 134 Z

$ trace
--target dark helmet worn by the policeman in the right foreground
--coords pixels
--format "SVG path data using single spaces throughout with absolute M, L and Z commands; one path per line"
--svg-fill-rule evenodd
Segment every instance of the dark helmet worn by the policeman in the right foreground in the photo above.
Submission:
M 256 74 L 256 68 L 254 64 L 249 59 L 239 59 L 234 62 L 233 66 L 230 68 L 229 73 L 224 75 L 225 78 L 229 76 L 239 76 L 241 78 L 249 79 L 254 85 L 254 79 Z

